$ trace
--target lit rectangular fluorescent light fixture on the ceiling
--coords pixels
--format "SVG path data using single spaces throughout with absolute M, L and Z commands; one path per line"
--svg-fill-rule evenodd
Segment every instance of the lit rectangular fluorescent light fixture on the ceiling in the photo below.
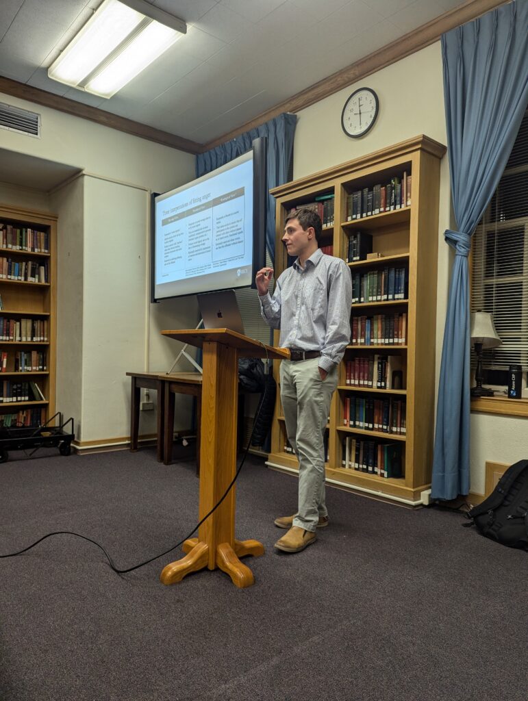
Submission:
M 187 32 L 145 0 L 104 0 L 48 68 L 48 76 L 111 97 Z

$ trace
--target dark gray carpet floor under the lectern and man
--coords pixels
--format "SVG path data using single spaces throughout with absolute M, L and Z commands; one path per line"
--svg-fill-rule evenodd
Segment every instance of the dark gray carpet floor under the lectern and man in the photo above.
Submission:
M 196 523 L 192 455 L 154 449 L 0 465 L 0 554 L 50 531 L 101 543 L 119 568 Z M 525 701 L 528 554 L 464 529 L 463 515 L 327 489 L 331 524 L 284 554 L 273 518 L 297 480 L 249 456 L 237 538 L 255 585 L 221 571 L 159 583 L 175 550 L 118 576 L 95 545 L 53 536 L 0 559 L 1 701 Z

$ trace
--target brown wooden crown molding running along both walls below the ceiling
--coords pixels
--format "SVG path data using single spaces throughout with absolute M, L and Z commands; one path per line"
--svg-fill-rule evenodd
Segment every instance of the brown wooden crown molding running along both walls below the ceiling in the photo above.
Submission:
M 53 93 L 48 93 L 46 90 L 33 88 L 25 83 L 18 83 L 18 81 L 13 81 L 1 76 L 0 93 L 13 95 L 13 97 L 19 97 L 21 100 L 29 100 L 29 102 L 35 102 L 44 107 L 50 107 L 51 109 L 57 109 L 58 111 L 66 112 L 76 117 L 88 119 L 111 129 L 117 129 L 127 134 L 141 137 L 142 139 L 148 139 L 149 141 L 171 147 L 172 149 L 178 149 L 188 154 L 201 154 L 204 151 L 219 146 L 219 144 L 224 144 L 226 141 L 261 125 L 283 112 L 296 113 L 302 109 L 306 109 L 306 107 L 310 107 L 312 104 L 324 100 L 325 97 L 337 93 L 339 90 L 352 85 L 352 83 L 356 83 L 356 81 L 370 76 L 402 58 L 422 48 L 426 48 L 426 46 L 430 46 L 432 43 L 435 43 L 435 41 L 438 41 L 442 34 L 449 32 L 450 29 L 459 27 L 466 22 L 471 22 L 471 20 L 480 17 L 480 15 L 484 15 L 490 10 L 507 4 L 508 2 L 510 2 L 510 0 L 468 0 L 460 7 L 440 15 L 440 17 L 431 20 L 431 22 L 428 22 L 426 25 L 415 29 L 413 32 L 409 32 L 409 34 L 405 34 L 405 36 L 402 36 L 400 39 L 374 51 L 374 53 L 341 69 L 322 81 L 318 81 L 318 83 L 315 83 L 310 88 L 302 90 L 302 92 L 293 95 L 288 100 L 280 102 L 280 104 L 277 104 L 275 107 L 262 112 L 262 114 L 259 114 L 259 116 L 251 121 L 240 125 L 236 129 L 206 144 L 198 144 L 189 139 L 184 139 L 183 137 L 169 134 L 168 132 L 155 129 L 154 127 L 149 127 L 146 124 L 135 122 L 132 119 L 120 117 L 116 114 L 111 114 L 111 112 L 97 109 L 97 107 L 90 107 L 82 102 L 69 100 L 69 98 L 60 95 L 53 95 Z

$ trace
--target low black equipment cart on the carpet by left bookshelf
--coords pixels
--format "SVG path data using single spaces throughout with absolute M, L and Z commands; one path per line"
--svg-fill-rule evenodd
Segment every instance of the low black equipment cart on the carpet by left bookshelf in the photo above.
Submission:
M 59 417 L 59 426 L 48 426 L 56 416 Z M 66 430 L 68 424 L 69 431 Z M 33 449 L 29 454 L 32 456 L 39 448 L 58 448 L 61 455 L 69 455 L 74 437 L 73 417 L 63 423 L 60 411 L 38 428 L 0 426 L 0 463 L 8 461 L 10 450 Z

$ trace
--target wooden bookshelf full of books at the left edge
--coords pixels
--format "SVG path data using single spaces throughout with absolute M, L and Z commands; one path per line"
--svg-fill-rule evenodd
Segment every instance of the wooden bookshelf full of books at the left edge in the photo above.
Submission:
M 55 215 L 0 205 L 0 426 L 55 414 L 56 247 Z

